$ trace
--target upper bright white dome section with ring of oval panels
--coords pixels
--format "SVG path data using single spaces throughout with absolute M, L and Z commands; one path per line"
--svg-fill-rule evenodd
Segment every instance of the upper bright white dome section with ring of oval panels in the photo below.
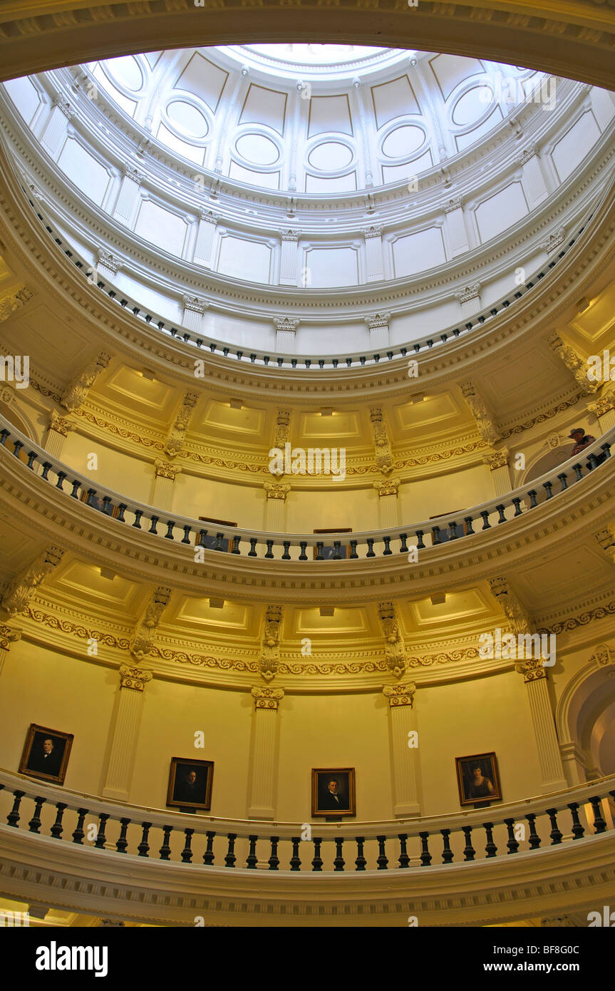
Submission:
M 514 115 L 540 79 L 460 55 L 328 45 L 171 50 L 88 68 L 196 167 L 312 196 L 412 180 Z

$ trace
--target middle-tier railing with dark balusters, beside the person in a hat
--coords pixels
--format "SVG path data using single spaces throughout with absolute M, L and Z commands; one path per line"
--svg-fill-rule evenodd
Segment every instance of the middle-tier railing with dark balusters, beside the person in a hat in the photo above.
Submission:
M 478 532 L 499 527 L 552 498 L 558 498 L 590 472 L 599 471 L 601 464 L 608 463 L 611 457 L 611 441 L 615 438 L 613 427 L 600 440 L 586 447 L 580 458 L 569 458 L 528 485 L 471 509 L 461 510 L 454 517 L 441 516 L 403 527 L 364 530 L 339 534 L 338 537 L 332 534 L 324 540 L 322 534 L 313 533 L 267 533 L 223 526 L 215 526 L 214 530 L 205 529 L 198 520 L 156 509 L 103 486 L 93 487 L 91 478 L 73 472 L 53 458 L 3 416 L 0 416 L 0 426 L 0 448 L 4 449 L 5 455 L 19 459 L 26 470 L 67 498 L 80 500 L 119 524 L 177 542 L 192 551 L 195 548 L 230 551 L 231 554 L 250 558 L 278 561 L 307 561 L 308 547 L 315 548 L 313 560 L 341 561 L 409 554 L 413 549 L 418 552 L 454 540 L 471 539 L 476 533 L 474 526 Z

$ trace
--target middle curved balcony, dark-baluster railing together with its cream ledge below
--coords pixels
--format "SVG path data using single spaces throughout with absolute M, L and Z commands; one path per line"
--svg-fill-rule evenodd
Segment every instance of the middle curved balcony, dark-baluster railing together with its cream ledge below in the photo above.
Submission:
M 231 585 L 238 594 L 240 588 L 243 594 L 250 589 L 252 599 L 267 601 L 274 589 L 280 603 L 301 598 L 304 605 L 320 605 L 324 593 L 331 602 L 348 601 L 350 590 L 358 601 L 375 600 L 382 597 L 384 586 L 387 596 L 407 595 L 409 579 L 414 595 L 433 593 L 440 582 L 451 589 L 492 575 L 502 554 L 507 555 L 508 567 L 512 562 L 522 564 L 536 554 L 537 540 L 547 554 L 564 527 L 570 539 L 612 515 L 615 462 L 610 442 L 615 428 L 587 447 L 581 459 L 570 458 L 529 487 L 491 499 L 455 519 L 445 516 L 395 530 L 341 535 L 340 541 L 332 541 L 335 556 L 330 560 L 308 560 L 307 548 L 316 547 L 318 555 L 322 546 L 313 533 L 222 528 L 216 530 L 216 543 L 210 549 L 207 530 L 197 520 L 124 500 L 100 486 L 94 489 L 91 479 L 72 472 L 8 421 L 3 423 L 0 504 L 7 506 L 12 518 L 77 554 L 92 556 L 95 548 L 95 559 L 116 570 L 156 582 L 160 570 L 172 573 L 176 588 L 199 593 L 207 582 L 210 592 L 228 593 Z M 28 466 L 20 455 L 28 457 Z M 604 457 L 603 463 L 589 470 L 596 456 Z M 458 527 L 463 523 L 468 531 L 461 535 Z M 481 529 L 475 532 L 472 523 L 482 523 Z M 158 525 L 164 533 L 158 532 Z M 448 540 L 439 546 L 445 531 Z M 226 541 L 231 553 L 224 553 Z M 351 554 L 345 560 L 342 549 L 347 546 Z M 409 561 L 411 547 L 417 548 L 416 562 Z

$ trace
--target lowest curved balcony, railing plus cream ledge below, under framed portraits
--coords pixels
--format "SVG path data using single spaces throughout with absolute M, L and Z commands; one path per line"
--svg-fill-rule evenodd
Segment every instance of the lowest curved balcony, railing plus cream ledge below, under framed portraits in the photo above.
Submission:
M 9 772 L 0 783 L 3 895 L 157 925 L 489 925 L 593 911 L 615 882 L 613 776 L 471 813 L 312 824 L 305 840 L 306 824 L 179 815 Z

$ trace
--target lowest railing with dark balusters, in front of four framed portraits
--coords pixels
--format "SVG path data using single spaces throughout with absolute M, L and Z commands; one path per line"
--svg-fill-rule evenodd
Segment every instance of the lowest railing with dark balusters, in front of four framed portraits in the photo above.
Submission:
M 129 806 L 0 770 L 8 826 L 163 861 L 319 873 L 490 860 L 613 833 L 615 775 L 472 812 L 371 823 L 263 823 Z M 615 808 L 615 806 L 611 806 Z

